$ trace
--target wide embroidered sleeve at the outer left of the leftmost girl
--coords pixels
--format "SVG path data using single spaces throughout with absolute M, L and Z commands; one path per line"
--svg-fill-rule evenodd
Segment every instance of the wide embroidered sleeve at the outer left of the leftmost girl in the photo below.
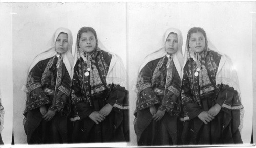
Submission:
M 27 110 L 39 108 L 45 104 L 50 104 L 50 99 L 42 90 L 41 77 L 44 70 L 44 63 L 38 62 L 30 71 L 27 79 Z

